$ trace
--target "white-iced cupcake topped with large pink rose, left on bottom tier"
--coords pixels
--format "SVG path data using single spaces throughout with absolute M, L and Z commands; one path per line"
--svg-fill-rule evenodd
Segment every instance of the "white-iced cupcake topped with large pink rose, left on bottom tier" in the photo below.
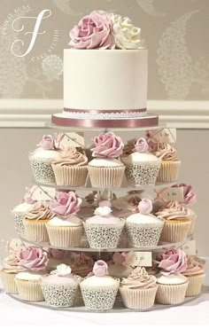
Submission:
M 15 276 L 19 298 L 29 302 L 44 301 L 41 282 L 46 275 L 48 254 L 40 247 L 30 246 L 19 253 L 19 266 L 24 270 Z

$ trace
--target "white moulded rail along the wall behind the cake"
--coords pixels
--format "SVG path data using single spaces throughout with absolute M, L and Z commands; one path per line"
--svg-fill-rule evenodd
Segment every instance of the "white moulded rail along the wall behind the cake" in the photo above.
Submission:
M 208 101 L 149 100 L 148 111 L 177 129 L 209 129 Z M 62 112 L 62 99 L 0 99 L 0 128 L 40 128 Z

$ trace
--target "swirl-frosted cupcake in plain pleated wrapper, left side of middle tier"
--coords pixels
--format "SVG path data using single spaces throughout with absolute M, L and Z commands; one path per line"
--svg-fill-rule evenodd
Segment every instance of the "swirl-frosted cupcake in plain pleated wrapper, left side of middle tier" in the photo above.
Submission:
M 47 201 L 37 201 L 28 210 L 23 224 L 25 236 L 31 242 L 48 242 L 45 224 L 54 216 Z

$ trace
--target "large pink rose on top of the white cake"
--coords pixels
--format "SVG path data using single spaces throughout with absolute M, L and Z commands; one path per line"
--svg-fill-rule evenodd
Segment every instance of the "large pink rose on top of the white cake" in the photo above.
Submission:
M 76 49 L 112 49 L 115 46 L 111 17 L 103 11 L 84 16 L 70 31 L 70 37 L 69 44 Z

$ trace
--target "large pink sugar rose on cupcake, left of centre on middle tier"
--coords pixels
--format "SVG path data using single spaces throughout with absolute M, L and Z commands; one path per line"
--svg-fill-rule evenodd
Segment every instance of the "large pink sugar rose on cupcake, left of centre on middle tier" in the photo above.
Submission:
M 77 198 L 73 191 L 58 192 L 55 201 L 51 204 L 51 211 L 61 217 L 74 215 L 80 210 L 81 199 Z

